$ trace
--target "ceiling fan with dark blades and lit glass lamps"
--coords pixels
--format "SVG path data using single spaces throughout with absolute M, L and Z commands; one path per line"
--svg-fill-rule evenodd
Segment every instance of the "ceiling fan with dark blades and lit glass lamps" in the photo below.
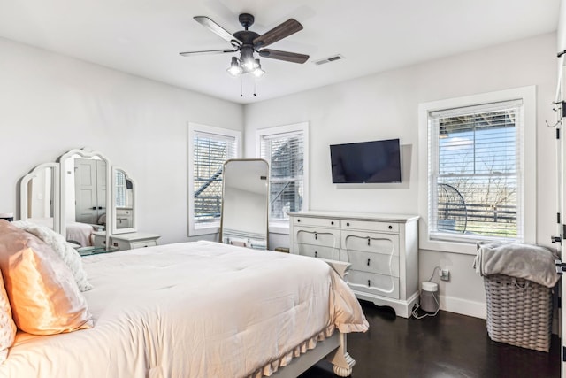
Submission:
M 241 13 L 238 17 L 244 30 L 238 31 L 233 35 L 206 16 L 195 16 L 193 19 L 203 25 L 203 27 L 207 27 L 212 33 L 230 42 L 232 49 L 186 51 L 180 52 L 180 55 L 189 57 L 199 54 L 224 54 L 240 51 L 240 58 L 232 57 L 232 63 L 227 69 L 228 73 L 231 73 L 233 76 L 238 76 L 241 73 L 253 73 L 256 76 L 261 76 L 265 73 L 261 68 L 259 58 L 255 58 L 254 53 L 257 53 L 262 58 L 278 59 L 293 63 L 304 63 L 309 59 L 308 55 L 296 52 L 265 49 L 266 46 L 302 30 L 302 25 L 296 19 L 287 19 L 287 21 L 279 24 L 277 27 L 273 27 L 272 30 L 264 33 L 264 35 L 258 35 L 256 32 L 248 30 L 255 20 L 254 16 L 249 13 Z

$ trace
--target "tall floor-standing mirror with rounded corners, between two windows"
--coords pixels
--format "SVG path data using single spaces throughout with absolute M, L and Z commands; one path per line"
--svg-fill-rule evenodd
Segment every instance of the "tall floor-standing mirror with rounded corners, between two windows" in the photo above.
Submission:
M 222 243 L 267 249 L 269 165 L 260 158 L 226 160 L 222 179 Z

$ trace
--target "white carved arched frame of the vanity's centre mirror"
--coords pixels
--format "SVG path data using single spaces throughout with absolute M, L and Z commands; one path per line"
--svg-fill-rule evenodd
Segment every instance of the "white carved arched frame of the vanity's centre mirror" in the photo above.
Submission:
M 90 150 L 87 147 L 83 148 L 83 149 L 73 149 L 73 150 L 69 150 L 68 152 L 65 152 L 65 154 L 61 155 L 59 158 L 57 158 L 57 162 L 59 163 L 60 167 L 60 177 L 61 177 L 61 183 L 60 183 L 60 187 L 59 187 L 59 192 L 60 192 L 60 214 L 59 214 L 59 229 L 60 230 L 65 230 L 66 229 L 66 224 L 65 224 L 65 213 L 66 213 L 66 209 L 65 209 L 65 161 L 68 158 L 72 158 L 74 155 L 79 155 L 80 158 L 101 158 L 103 160 L 106 161 L 106 227 L 104 228 L 104 232 L 106 234 L 106 245 L 110 245 L 110 236 L 111 236 L 111 232 L 109 232 L 109 230 L 111 231 L 113 228 L 113 212 L 112 212 L 112 207 L 113 206 L 109 206 L 108 204 L 113 204 L 112 201 L 112 197 L 113 197 L 113 193 L 114 193 L 114 187 L 112 185 L 112 178 L 111 178 L 111 174 L 113 172 L 112 170 L 112 165 L 111 165 L 111 161 L 109 158 L 106 158 L 106 156 L 104 156 L 104 154 L 100 151 L 95 151 L 95 150 Z M 110 183 L 111 188 L 108 188 L 108 184 Z M 110 223 L 110 224 L 109 224 Z M 65 234 L 64 234 L 65 235 Z

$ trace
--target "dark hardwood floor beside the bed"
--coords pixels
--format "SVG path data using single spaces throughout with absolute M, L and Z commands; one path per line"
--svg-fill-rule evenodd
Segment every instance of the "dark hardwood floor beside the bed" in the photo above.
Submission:
M 348 335 L 348 352 L 356 359 L 353 378 L 560 377 L 556 335 L 550 352 L 532 351 L 491 341 L 486 320 L 442 311 L 403 319 L 368 302 L 362 306 L 370 330 Z M 333 376 L 332 366 L 322 361 L 300 378 Z

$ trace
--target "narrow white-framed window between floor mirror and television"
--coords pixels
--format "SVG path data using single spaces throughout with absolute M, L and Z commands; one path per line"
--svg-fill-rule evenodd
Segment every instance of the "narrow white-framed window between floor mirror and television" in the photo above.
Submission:
M 308 124 L 257 130 L 258 154 L 270 166 L 270 224 L 307 209 Z

